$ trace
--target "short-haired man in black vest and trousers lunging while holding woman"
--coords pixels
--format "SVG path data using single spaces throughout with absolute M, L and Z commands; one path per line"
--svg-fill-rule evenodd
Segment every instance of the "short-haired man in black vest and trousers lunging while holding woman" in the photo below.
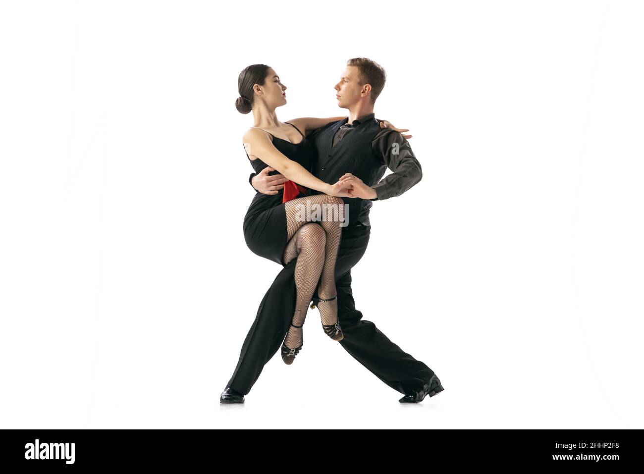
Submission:
M 317 150 L 313 174 L 324 182 L 341 179 L 352 186 L 353 197 L 343 198 L 348 205 L 348 222 L 342 230 L 336 260 L 337 311 L 345 335 L 339 343 L 381 381 L 403 393 L 401 403 L 418 403 L 426 395 L 432 397 L 443 390 L 440 380 L 428 366 L 390 341 L 374 323 L 362 319 L 351 290 L 351 269 L 365 254 L 369 242 L 373 202 L 400 196 L 422 178 L 421 164 L 407 140 L 398 131 L 382 129 L 375 119 L 375 99 L 385 80 L 385 72 L 376 62 L 366 58 L 347 61 L 335 89 L 337 104 L 348 109 L 348 117 L 316 129 L 307 138 Z M 298 120 L 290 122 L 304 129 Z M 392 173 L 381 180 L 386 167 Z M 272 168 L 256 176 L 253 173 L 249 181 L 257 191 L 274 194 L 287 180 L 283 175 L 269 176 L 268 171 Z M 311 190 L 310 194 L 319 192 Z M 265 363 L 278 351 L 294 310 L 296 260 L 281 270 L 264 297 L 221 403 L 243 403 Z M 318 300 L 315 294 L 314 303 Z M 265 301 L 271 301 L 274 307 L 268 307 Z

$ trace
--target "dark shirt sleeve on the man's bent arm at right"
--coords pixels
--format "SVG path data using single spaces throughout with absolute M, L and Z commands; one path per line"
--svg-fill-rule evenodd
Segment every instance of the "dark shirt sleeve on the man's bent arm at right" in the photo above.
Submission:
M 400 196 L 422 178 L 422 168 L 406 138 L 392 129 L 384 129 L 372 141 L 372 150 L 381 156 L 392 170 L 378 184 L 373 185 L 377 197 L 370 201 Z

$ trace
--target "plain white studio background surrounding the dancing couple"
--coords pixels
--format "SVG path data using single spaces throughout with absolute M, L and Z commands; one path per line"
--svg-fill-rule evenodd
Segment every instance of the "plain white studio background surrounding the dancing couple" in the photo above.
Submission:
M 627 1 L 0 8 L 2 428 L 644 428 L 644 30 Z M 422 181 L 372 207 L 357 309 L 444 392 L 392 390 L 308 312 L 220 405 L 281 267 L 245 245 L 234 108 L 332 117 L 350 57 Z

